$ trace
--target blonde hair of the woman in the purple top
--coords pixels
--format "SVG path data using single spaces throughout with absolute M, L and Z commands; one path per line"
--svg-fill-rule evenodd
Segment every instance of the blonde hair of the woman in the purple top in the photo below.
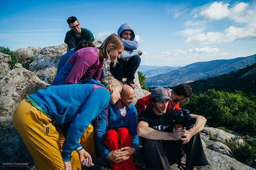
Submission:
M 110 51 L 108 51 L 108 46 L 111 45 Z M 102 45 L 98 48 L 101 50 L 102 55 L 105 59 L 110 59 L 110 52 L 115 49 L 124 48 L 124 43 L 117 34 L 113 33 L 104 40 Z M 113 61 L 114 65 L 117 63 L 117 59 Z

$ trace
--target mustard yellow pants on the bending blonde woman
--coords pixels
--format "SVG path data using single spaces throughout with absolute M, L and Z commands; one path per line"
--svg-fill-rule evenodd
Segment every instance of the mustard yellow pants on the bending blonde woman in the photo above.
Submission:
M 65 169 L 61 157 L 64 136 L 58 133 L 50 118 L 23 99 L 14 112 L 13 124 L 32 155 L 36 169 Z M 49 128 L 47 134 L 46 127 Z M 75 150 L 70 155 L 70 162 L 72 169 L 81 169 L 79 155 Z

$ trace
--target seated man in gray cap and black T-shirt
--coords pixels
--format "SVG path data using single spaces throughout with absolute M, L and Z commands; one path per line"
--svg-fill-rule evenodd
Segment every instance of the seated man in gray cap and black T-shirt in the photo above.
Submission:
M 164 88 L 154 89 L 149 100 L 153 106 L 141 112 L 137 125 L 137 134 L 142 137 L 142 153 L 146 165 L 154 169 L 170 169 L 170 165 L 174 163 L 180 169 L 208 165 L 199 134 L 206 119 L 200 115 L 167 109 L 170 97 Z M 186 114 L 186 118 L 196 119 L 192 128 L 174 130 L 174 125 L 178 124 L 175 120 L 181 113 Z M 183 164 L 180 159 L 185 154 L 186 164 Z

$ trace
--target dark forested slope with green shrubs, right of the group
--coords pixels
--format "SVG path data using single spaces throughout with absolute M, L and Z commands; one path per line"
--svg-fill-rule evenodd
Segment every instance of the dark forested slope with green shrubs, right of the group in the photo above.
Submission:
M 207 118 L 206 126 L 243 135 L 226 140 L 233 156 L 249 165 L 256 155 L 256 64 L 218 77 L 189 83 L 193 96 L 182 108 Z

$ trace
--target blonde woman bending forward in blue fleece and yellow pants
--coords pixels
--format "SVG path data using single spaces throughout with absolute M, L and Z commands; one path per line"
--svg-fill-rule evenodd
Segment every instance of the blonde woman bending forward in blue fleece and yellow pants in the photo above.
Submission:
M 71 169 L 93 166 L 92 158 L 79 143 L 79 138 L 108 103 L 120 99 L 122 83 L 107 77 L 101 83 L 50 86 L 27 96 L 14 112 L 14 127 L 20 134 L 35 162 L 36 169 Z M 63 93 L 64 92 L 64 93 Z M 61 153 L 62 127 L 65 141 Z M 72 152 L 74 162 L 70 163 Z M 79 166 L 77 166 L 77 164 Z

